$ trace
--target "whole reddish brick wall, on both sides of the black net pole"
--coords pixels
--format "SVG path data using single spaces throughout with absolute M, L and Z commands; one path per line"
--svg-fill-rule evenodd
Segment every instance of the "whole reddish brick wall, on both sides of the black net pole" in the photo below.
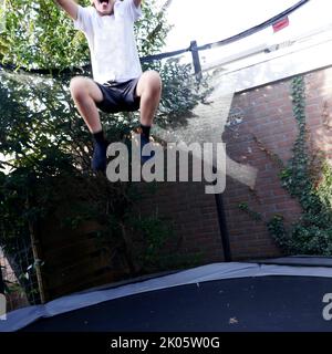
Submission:
M 307 123 L 310 144 L 329 153 L 332 144 L 332 69 L 304 75 Z M 255 188 L 227 177 L 224 194 L 226 217 L 234 260 L 281 256 L 269 235 L 266 221 L 282 215 L 290 225 L 301 208 L 281 187 L 279 159 L 292 156 L 298 127 L 292 113 L 291 79 L 248 90 L 235 95 L 228 124 L 222 134 L 228 156 L 257 168 Z M 332 157 L 332 156 L 330 156 Z M 261 216 L 253 220 L 239 205 L 246 204 Z M 222 261 L 215 197 L 205 195 L 203 184 L 159 184 L 143 212 L 158 210 L 173 218 L 184 253 L 204 252 L 203 262 Z

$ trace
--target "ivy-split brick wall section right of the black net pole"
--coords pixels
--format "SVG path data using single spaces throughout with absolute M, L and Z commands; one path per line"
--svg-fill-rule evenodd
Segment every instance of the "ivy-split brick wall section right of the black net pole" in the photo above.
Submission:
M 307 96 L 307 124 L 313 150 L 331 150 L 332 135 L 332 69 L 304 75 Z M 291 80 L 239 93 L 235 96 L 231 112 L 238 118 L 225 129 L 222 139 L 229 157 L 257 168 L 253 190 L 234 179 L 227 179 L 225 204 L 235 259 L 274 257 L 281 252 L 266 228 L 273 215 L 282 215 L 289 225 L 295 220 L 300 206 L 280 186 L 280 165 L 292 156 L 298 127 L 292 114 Z M 261 221 L 239 209 L 245 202 L 259 212 Z

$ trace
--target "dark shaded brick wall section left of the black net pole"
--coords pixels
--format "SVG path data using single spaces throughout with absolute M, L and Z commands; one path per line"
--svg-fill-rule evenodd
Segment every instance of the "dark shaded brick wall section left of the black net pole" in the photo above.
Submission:
M 172 223 L 175 237 L 164 256 L 177 254 L 183 267 L 224 261 L 215 196 L 205 194 L 205 184 L 158 183 L 138 208 L 144 216 L 158 215 Z

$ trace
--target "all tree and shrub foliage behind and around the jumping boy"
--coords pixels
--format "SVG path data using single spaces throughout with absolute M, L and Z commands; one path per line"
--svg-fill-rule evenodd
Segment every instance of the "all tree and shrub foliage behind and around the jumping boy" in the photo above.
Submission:
M 165 13 L 156 13 L 154 3 L 145 1 L 145 15 L 135 28 L 142 55 L 159 52 L 169 29 Z M 0 35 L 0 59 L 17 69 L 52 73 L 89 63 L 84 37 L 50 0 L 9 0 L 6 31 Z M 206 91 L 201 93 L 195 84 L 189 65 L 169 60 L 145 69 L 158 70 L 164 81 L 159 123 L 174 121 L 204 98 Z M 83 69 L 81 74 L 91 75 Z M 0 70 L 0 246 L 25 290 L 24 274 L 34 267 L 17 264 L 18 240 L 30 242 L 31 225 L 55 218 L 59 208 L 68 210 L 61 227 L 77 229 L 94 220 L 101 226 L 96 232 L 102 243 L 117 252 L 124 252 L 125 233 L 133 228 L 126 216 L 138 195 L 131 184 L 110 184 L 91 173 L 91 136 L 70 96 L 71 79 L 64 71 L 61 75 L 32 75 Z M 110 142 L 128 143 L 126 135 L 138 115 L 102 114 L 102 121 Z M 159 251 L 172 235 L 168 226 L 156 217 L 142 218 L 133 238 L 135 232 L 145 240 L 143 264 L 160 266 Z M 45 266 L 43 271 L 50 270 Z

